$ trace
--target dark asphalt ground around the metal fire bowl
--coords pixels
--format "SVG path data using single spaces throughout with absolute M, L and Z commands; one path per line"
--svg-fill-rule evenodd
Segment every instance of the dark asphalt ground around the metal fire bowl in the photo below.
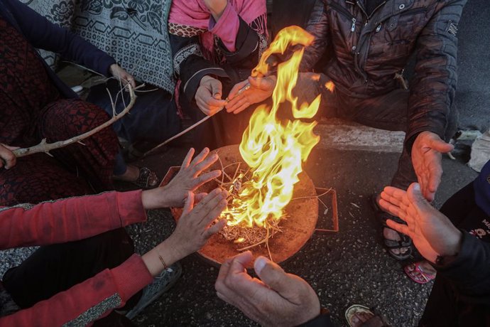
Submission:
M 180 164 L 185 151 L 173 148 L 145 159 L 144 164 L 163 174 L 169 166 Z M 343 316 L 351 304 L 364 304 L 383 313 L 392 326 L 416 326 L 423 312 L 432 283 L 415 284 L 403 273 L 403 263 L 386 254 L 381 225 L 369 205 L 369 196 L 391 180 L 397 161 L 395 153 L 317 148 L 305 166 L 315 186 L 337 191 L 339 232 L 315 232 L 283 268 L 312 285 L 337 326 L 347 326 Z M 436 206 L 477 175 L 459 159 L 445 157 L 443 166 Z M 141 252 L 170 235 L 174 226 L 167 210 L 153 210 L 148 217 L 148 223 L 130 229 Z M 217 298 L 217 268 L 196 254 L 181 263 L 183 276 L 135 318 L 138 326 L 254 326 Z

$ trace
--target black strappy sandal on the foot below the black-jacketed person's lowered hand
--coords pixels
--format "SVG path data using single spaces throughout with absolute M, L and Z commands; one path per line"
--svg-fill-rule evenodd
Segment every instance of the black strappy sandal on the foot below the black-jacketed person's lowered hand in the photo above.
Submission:
M 395 223 L 406 225 L 405 222 L 403 220 L 401 220 L 400 218 L 395 217 L 393 215 L 390 215 L 389 213 L 386 213 L 385 211 L 381 210 L 381 208 L 379 208 L 378 203 L 376 202 L 376 198 L 377 198 L 376 193 L 371 195 L 371 207 L 373 208 L 374 212 L 376 213 L 376 218 L 378 218 L 378 220 L 383 225 L 383 228 L 388 228 L 390 230 L 393 230 L 391 227 L 389 227 L 386 224 L 386 220 L 388 220 L 388 219 L 393 220 Z M 410 239 L 410 237 L 408 237 L 405 234 L 402 234 L 401 232 L 397 232 L 396 230 L 393 230 L 393 231 L 398 234 L 398 237 L 400 237 L 399 241 L 388 240 L 383 235 L 383 243 L 384 243 L 384 246 L 386 247 L 386 250 L 388 251 L 388 254 L 390 254 L 391 257 L 393 257 L 397 260 L 400 260 L 400 261 L 408 259 L 412 255 L 412 240 Z M 401 250 L 403 248 L 406 248 L 408 250 L 405 253 L 401 253 Z M 399 253 L 395 254 L 391 250 L 398 250 Z

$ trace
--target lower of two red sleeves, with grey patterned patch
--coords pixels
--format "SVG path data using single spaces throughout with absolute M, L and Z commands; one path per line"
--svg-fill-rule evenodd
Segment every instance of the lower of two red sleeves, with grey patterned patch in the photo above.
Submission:
M 86 326 L 124 306 L 131 296 L 152 282 L 141 257 L 133 254 L 114 269 L 105 269 L 67 291 L 29 309 L 0 318 L 0 326 Z

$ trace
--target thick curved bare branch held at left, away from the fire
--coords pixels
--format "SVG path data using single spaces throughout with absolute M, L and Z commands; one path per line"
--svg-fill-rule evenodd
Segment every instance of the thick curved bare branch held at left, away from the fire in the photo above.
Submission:
M 127 114 L 129 112 L 129 110 L 131 110 L 131 108 L 134 105 L 134 102 L 136 101 L 136 95 L 134 94 L 133 87 L 129 83 L 126 86 L 129 89 L 129 95 L 131 96 L 131 101 L 129 102 L 128 106 L 126 108 L 124 108 L 124 110 L 120 114 L 114 115 L 107 122 L 104 122 L 104 124 L 95 127 L 94 129 L 90 130 L 89 132 L 85 132 L 84 134 L 72 137 L 71 139 L 67 139 L 65 141 L 57 141 L 54 143 L 48 143 L 46 141 L 46 139 L 43 139 L 42 141 L 40 141 L 40 144 L 38 144 L 38 145 L 31 146 L 31 147 L 24 148 L 24 149 L 14 150 L 14 151 L 12 151 L 14 156 L 16 156 L 17 158 L 20 158 L 21 156 L 28 156 L 29 154 L 38 154 L 40 152 L 44 152 L 45 154 L 50 154 L 49 151 L 51 151 L 51 150 L 60 149 L 64 146 L 68 146 L 70 144 L 79 143 L 83 139 L 87 139 L 87 137 L 90 137 L 90 136 L 96 134 L 97 132 L 101 131 L 102 129 L 109 127 L 111 124 L 113 124 L 114 122 L 116 122 L 119 119 L 121 119 L 122 117 L 124 117 L 124 115 Z

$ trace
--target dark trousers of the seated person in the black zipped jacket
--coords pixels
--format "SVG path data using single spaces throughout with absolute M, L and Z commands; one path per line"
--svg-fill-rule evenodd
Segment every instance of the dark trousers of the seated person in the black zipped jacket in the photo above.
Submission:
M 408 128 L 408 90 L 397 89 L 379 95 L 359 99 L 348 97 L 338 90 L 327 90 L 325 84 L 330 81 L 327 75 L 320 74 L 320 80 L 312 78 L 313 73 L 302 73 L 295 88 L 296 95 L 302 101 L 311 102 L 318 94 L 322 95 L 319 115 L 328 118 L 340 118 L 357 122 L 376 129 L 407 132 Z M 317 74 L 315 74 L 317 75 Z M 452 106 L 445 140 L 457 132 L 457 109 Z M 406 139 L 405 139 L 406 141 Z M 417 176 L 413 171 L 411 155 L 403 146 L 398 159 L 398 169 L 391 180 L 391 186 L 406 189 L 410 183 L 416 182 Z

